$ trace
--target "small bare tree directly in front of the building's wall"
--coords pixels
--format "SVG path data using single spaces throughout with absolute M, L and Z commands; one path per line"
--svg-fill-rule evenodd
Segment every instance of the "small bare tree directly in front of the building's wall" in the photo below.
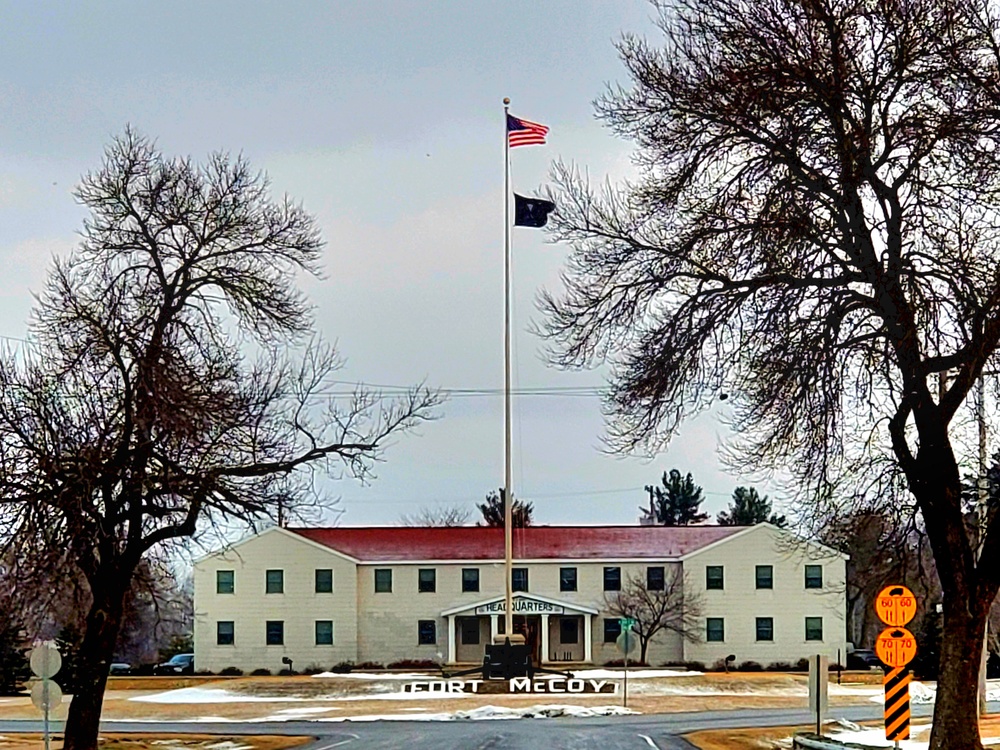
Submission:
M 658 635 L 676 633 L 696 641 L 701 620 L 701 599 L 685 594 L 685 577 L 679 567 L 669 569 L 663 588 L 650 588 L 641 576 L 630 574 L 620 591 L 604 595 L 604 609 L 616 617 L 635 620 L 632 632 L 639 638 L 639 661 L 646 663 L 646 650 Z

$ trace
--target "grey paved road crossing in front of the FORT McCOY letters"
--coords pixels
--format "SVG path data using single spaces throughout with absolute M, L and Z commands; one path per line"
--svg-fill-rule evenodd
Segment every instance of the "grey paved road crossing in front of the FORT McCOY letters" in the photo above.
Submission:
M 1000 704 L 990 704 L 990 712 Z M 930 705 L 913 713 L 926 716 Z M 881 718 L 878 704 L 838 707 L 832 716 L 851 721 Z M 104 722 L 106 732 L 312 735 L 308 750 L 691 750 L 680 737 L 702 729 L 808 725 L 804 709 L 754 709 L 617 716 L 593 719 L 372 722 Z M 0 721 L 0 733 L 38 732 L 40 721 Z M 59 731 L 61 726 L 54 731 Z

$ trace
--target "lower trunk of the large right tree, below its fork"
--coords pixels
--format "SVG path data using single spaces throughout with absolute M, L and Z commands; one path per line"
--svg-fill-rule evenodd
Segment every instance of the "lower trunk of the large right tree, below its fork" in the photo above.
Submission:
M 982 750 L 978 719 L 979 658 L 986 616 L 981 609 L 969 595 L 945 594 L 941 664 L 929 750 L 959 747 Z

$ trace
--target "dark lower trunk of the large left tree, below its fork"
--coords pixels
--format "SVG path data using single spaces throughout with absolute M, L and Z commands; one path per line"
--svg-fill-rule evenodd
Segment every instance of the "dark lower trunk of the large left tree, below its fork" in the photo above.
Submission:
M 97 750 L 104 690 L 121 629 L 127 586 L 108 580 L 111 576 L 96 578 L 101 584 L 91 585 L 93 602 L 80 646 L 79 689 L 69 705 L 64 750 Z

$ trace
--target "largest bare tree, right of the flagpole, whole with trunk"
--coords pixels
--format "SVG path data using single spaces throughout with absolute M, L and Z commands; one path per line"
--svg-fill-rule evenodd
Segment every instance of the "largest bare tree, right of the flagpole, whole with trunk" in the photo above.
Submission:
M 915 507 L 943 589 L 932 750 L 980 748 L 1000 515 L 970 534 L 970 390 L 1000 341 L 1000 23 L 986 0 L 658 0 L 598 102 L 639 174 L 557 165 L 560 366 L 611 365 L 609 442 L 655 451 L 732 394 L 736 468 Z M 978 538 L 976 538 L 978 537 Z

